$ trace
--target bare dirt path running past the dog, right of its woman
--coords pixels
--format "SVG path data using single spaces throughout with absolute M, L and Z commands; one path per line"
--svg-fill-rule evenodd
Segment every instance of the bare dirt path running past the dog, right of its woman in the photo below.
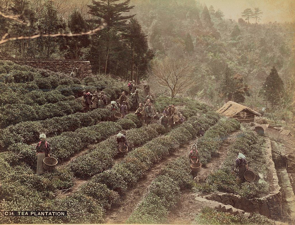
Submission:
M 199 175 L 207 176 L 210 172 L 220 168 L 222 162 L 227 156 L 227 148 L 234 141 L 235 137 L 242 133 L 237 130 L 226 137 L 220 146 L 217 155 L 212 156 L 211 161 L 206 167 L 202 168 Z M 176 206 L 172 209 L 168 217 L 169 224 L 191 224 L 196 215 L 200 212 L 202 204 L 194 201 L 194 192 L 191 190 L 184 190 L 181 193 L 180 200 L 176 203 Z

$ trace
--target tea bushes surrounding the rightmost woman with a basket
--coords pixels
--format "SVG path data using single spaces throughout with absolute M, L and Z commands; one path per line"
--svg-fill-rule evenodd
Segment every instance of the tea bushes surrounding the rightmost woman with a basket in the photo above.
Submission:
M 249 169 L 263 174 L 267 170 L 262 150 L 263 142 L 264 139 L 257 133 L 245 128 L 245 131 L 237 135 L 235 142 L 230 145 L 221 168 L 210 173 L 207 177 L 208 184 L 198 186 L 199 190 L 214 191 L 217 189 L 218 191 L 235 193 L 248 198 L 258 197 L 266 188 L 266 182 L 263 178 L 251 183 L 241 183 L 239 178 L 237 180 L 237 174 L 233 172 L 233 169 L 235 159 L 240 152 L 246 156 Z

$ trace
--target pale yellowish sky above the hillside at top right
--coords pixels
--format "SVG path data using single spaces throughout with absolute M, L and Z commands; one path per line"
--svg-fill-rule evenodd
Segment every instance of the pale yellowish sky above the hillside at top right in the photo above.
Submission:
M 220 9 L 224 17 L 239 19 L 244 9 L 252 10 L 259 7 L 263 12 L 260 23 L 291 22 L 295 21 L 295 0 L 198 0 L 202 5 L 214 6 L 215 11 Z M 251 21 L 250 21 L 251 22 Z M 252 22 L 255 22 L 252 19 Z

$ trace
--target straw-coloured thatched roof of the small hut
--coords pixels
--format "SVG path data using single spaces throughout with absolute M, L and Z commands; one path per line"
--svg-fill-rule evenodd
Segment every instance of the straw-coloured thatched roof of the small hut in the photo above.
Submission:
M 228 101 L 227 103 L 225 103 L 219 110 L 217 110 L 216 112 L 219 112 L 225 116 L 229 116 L 232 117 L 234 115 L 237 115 L 239 112 L 248 112 L 248 113 L 253 113 L 256 116 L 261 116 L 260 113 L 256 112 L 253 109 L 250 109 L 244 105 L 241 105 L 237 102 L 232 102 L 232 101 Z

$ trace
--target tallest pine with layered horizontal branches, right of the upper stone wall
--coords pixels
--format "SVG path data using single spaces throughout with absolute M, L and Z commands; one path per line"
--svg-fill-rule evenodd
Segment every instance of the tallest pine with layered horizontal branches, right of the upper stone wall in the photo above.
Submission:
M 123 13 L 129 12 L 134 6 L 129 6 L 130 0 L 100 0 L 92 1 L 92 5 L 88 5 L 89 13 L 94 17 L 89 20 L 89 22 L 99 25 L 101 24 L 101 19 L 106 22 L 107 27 L 99 33 L 99 37 L 96 35 L 96 39 L 99 38 L 100 46 L 105 55 L 105 65 L 104 73 L 108 71 L 110 73 L 110 68 L 108 68 L 110 58 L 113 58 L 115 43 L 119 43 L 120 35 L 119 33 L 125 32 L 127 27 L 127 20 L 133 18 L 134 15 L 122 16 Z M 92 43 L 92 50 L 96 49 L 96 43 Z M 92 54 L 92 53 L 91 53 Z M 100 56 L 101 53 L 99 53 Z M 117 55 L 117 54 L 116 54 Z M 99 65 L 100 67 L 100 65 Z

